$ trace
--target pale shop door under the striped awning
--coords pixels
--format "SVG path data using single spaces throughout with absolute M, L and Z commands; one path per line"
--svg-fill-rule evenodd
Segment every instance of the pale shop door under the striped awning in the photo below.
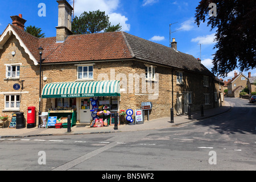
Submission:
M 92 112 L 90 111 L 90 100 L 82 98 L 80 104 L 80 123 L 88 124 L 91 120 Z

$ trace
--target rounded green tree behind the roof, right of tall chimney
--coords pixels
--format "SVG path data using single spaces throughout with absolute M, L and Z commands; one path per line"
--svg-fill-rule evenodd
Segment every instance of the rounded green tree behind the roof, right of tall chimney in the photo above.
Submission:
M 121 30 L 120 24 L 112 26 L 105 11 L 89 11 L 76 16 L 72 22 L 73 34 L 93 34 L 101 31 L 114 32 Z

